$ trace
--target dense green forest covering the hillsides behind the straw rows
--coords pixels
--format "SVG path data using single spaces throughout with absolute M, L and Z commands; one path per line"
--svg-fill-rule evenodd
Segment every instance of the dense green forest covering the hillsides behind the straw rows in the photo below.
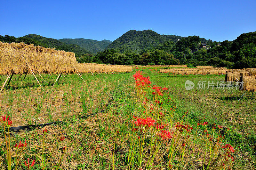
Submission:
M 117 65 L 181 64 L 188 67 L 198 65 L 228 68 L 256 67 L 256 32 L 241 34 L 233 41 L 216 42 L 199 36 L 180 37 L 160 35 L 152 30 L 131 30 L 96 55 L 78 45 L 65 44 L 59 40 L 35 34 L 20 38 L 0 36 L 0 41 L 31 43 L 75 52 L 78 62 Z M 201 43 L 207 43 L 207 48 L 201 48 Z

